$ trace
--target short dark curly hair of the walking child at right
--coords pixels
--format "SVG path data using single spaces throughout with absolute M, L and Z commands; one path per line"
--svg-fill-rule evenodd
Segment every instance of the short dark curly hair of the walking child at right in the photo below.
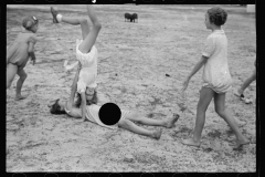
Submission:
M 227 13 L 220 7 L 214 7 L 208 10 L 209 20 L 215 25 L 223 25 L 226 22 Z

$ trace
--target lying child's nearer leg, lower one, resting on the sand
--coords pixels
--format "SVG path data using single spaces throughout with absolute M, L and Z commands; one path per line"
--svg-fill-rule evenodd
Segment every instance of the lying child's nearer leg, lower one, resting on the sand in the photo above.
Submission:
M 118 126 L 121 127 L 121 128 L 125 128 L 127 131 L 130 131 L 130 132 L 134 132 L 136 134 L 139 134 L 139 135 L 144 135 L 144 136 L 149 136 L 149 137 L 152 137 L 152 138 L 156 138 L 156 139 L 159 139 L 160 136 L 161 136 L 161 131 L 148 131 L 148 129 L 145 129 L 140 126 L 137 126 L 135 123 L 132 123 L 131 121 L 129 119 L 120 119 L 118 122 Z

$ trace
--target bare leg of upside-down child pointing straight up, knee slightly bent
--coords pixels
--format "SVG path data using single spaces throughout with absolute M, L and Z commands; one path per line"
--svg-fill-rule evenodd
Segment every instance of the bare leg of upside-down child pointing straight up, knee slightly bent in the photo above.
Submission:
M 86 6 L 88 17 L 93 23 L 92 31 L 86 35 L 84 41 L 80 44 L 80 51 L 82 53 L 88 53 L 92 46 L 95 44 L 97 35 L 102 29 L 102 24 L 98 22 L 96 13 L 91 4 Z

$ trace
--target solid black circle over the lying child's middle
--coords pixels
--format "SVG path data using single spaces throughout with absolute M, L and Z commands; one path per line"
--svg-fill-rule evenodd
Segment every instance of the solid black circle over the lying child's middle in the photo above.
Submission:
M 105 103 L 100 107 L 98 116 L 103 124 L 115 125 L 120 119 L 121 111 L 115 103 Z

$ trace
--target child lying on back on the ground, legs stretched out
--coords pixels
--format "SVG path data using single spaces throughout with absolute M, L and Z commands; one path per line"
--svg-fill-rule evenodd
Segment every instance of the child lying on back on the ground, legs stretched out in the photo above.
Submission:
M 77 93 L 77 101 L 74 102 L 74 96 L 76 92 L 76 83 L 78 80 L 80 70 L 77 70 L 75 74 L 75 79 L 72 84 L 71 95 L 70 98 L 66 102 L 56 100 L 55 103 L 52 103 L 49 105 L 51 107 L 50 112 L 52 114 L 67 114 L 72 117 L 81 118 L 82 117 L 82 110 L 81 106 L 81 98 L 80 94 Z M 161 136 L 161 131 L 148 131 L 140 126 L 137 126 L 134 122 L 144 124 L 144 125 L 153 125 L 153 126 L 163 126 L 167 128 L 172 128 L 176 124 L 176 122 L 179 119 L 179 115 L 174 114 L 172 118 L 170 119 L 152 119 L 147 118 L 144 115 L 139 114 L 138 112 L 129 112 L 121 110 L 121 117 L 119 122 L 114 126 L 108 126 L 102 123 L 102 121 L 98 117 L 98 112 L 100 110 L 100 106 L 97 105 L 97 92 L 93 88 L 86 90 L 86 119 L 96 123 L 100 126 L 107 127 L 107 128 L 117 128 L 121 127 L 128 131 L 131 131 L 136 134 L 152 137 L 155 139 L 159 139 Z M 110 118 L 110 117 L 109 117 Z

